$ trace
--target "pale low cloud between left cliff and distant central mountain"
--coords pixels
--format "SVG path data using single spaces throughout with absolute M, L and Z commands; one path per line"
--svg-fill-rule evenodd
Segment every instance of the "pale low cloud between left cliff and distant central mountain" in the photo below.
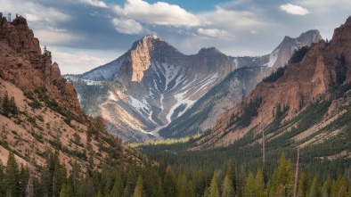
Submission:
M 53 62 L 59 64 L 62 74 L 81 74 L 112 61 L 112 59 L 97 57 L 92 53 L 64 53 L 50 48 L 48 50 L 52 52 Z

